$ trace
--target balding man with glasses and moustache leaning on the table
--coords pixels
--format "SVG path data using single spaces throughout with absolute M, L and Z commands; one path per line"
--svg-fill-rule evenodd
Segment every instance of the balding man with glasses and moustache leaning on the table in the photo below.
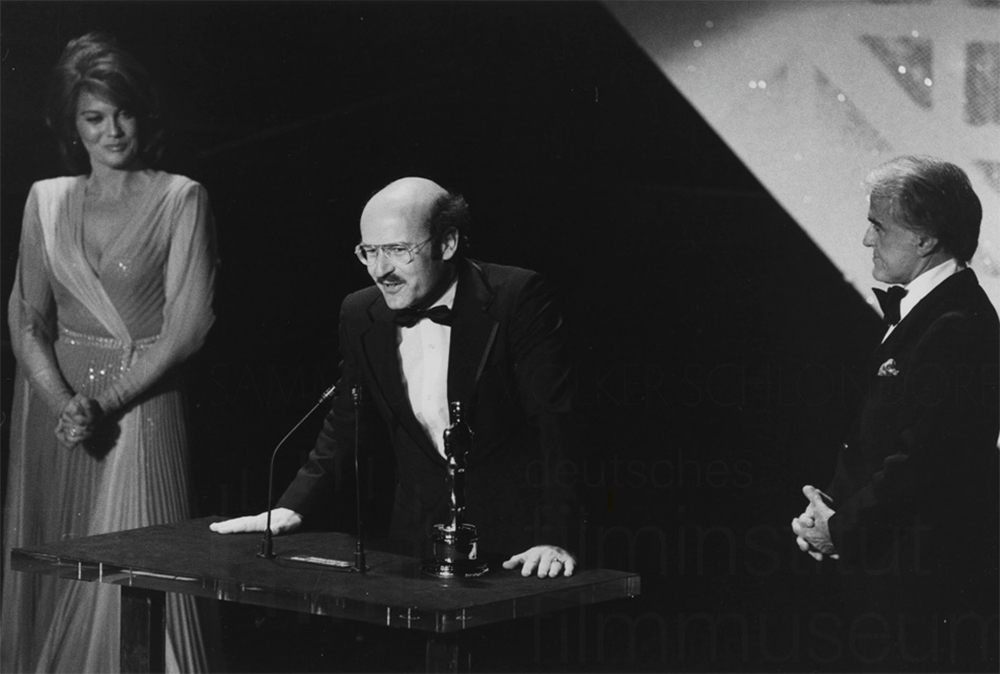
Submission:
M 524 575 L 573 573 L 564 547 L 573 494 L 551 476 L 573 450 L 573 376 L 552 290 L 535 272 L 464 256 L 468 209 L 461 196 L 424 178 L 375 194 L 361 215 L 355 253 L 374 286 L 340 310 L 343 356 L 335 399 L 306 464 L 272 511 L 288 532 L 329 507 L 353 470 L 355 421 L 362 452 L 388 439 L 395 494 L 389 536 L 418 547 L 448 521 L 443 432 L 449 402 L 468 410 L 474 441 L 466 469 L 467 520 L 486 552 L 511 555 Z M 392 472 L 384 465 L 385 472 Z M 263 531 L 267 513 L 212 528 Z M 512 554 L 513 553 L 513 554 Z

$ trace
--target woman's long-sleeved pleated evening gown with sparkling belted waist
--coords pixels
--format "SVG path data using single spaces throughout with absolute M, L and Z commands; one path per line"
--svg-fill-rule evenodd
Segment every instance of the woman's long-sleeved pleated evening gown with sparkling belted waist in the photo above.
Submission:
M 141 203 L 96 258 L 83 243 L 85 177 L 36 183 L 25 207 L 9 311 L 18 364 L 3 671 L 116 672 L 119 664 L 120 589 L 11 571 L 12 548 L 192 514 L 178 365 L 213 321 L 213 223 L 199 184 L 160 172 L 147 177 Z M 38 383 L 53 375 L 53 362 L 73 392 L 96 397 L 110 388 L 124 403 L 98 437 L 74 449 L 56 440 L 59 411 Z M 206 671 L 199 622 L 190 597 L 168 595 L 168 671 Z

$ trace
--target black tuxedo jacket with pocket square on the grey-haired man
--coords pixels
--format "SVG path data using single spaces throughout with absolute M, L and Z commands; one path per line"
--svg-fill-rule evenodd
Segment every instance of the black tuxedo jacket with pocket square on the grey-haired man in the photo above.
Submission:
M 869 588 L 905 586 L 914 601 L 954 606 L 985 582 L 979 592 L 994 588 L 995 605 L 998 335 L 997 312 L 967 269 L 875 349 L 827 492 L 841 564 Z

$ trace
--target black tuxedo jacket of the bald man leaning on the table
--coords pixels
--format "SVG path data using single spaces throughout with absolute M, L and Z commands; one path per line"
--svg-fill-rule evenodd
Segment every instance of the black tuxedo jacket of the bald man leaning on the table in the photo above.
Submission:
M 485 552 L 567 545 L 574 485 L 554 479 L 574 447 L 574 376 L 566 330 L 543 278 L 532 271 L 459 260 L 448 361 L 448 399 L 473 431 L 466 519 Z M 340 312 L 340 393 L 305 465 L 278 502 L 303 515 L 352 489 L 355 420 L 366 467 L 395 473 L 389 536 L 426 552 L 449 521 L 447 464 L 414 416 L 402 384 L 397 327 L 378 288 L 349 295 Z M 361 402 L 350 392 L 360 385 Z M 382 441 L 380 443 L 380 441 Z M 391 450 L 380 453 L 380 446 Z M 374 457 L 374 460 L 373 460 Z

